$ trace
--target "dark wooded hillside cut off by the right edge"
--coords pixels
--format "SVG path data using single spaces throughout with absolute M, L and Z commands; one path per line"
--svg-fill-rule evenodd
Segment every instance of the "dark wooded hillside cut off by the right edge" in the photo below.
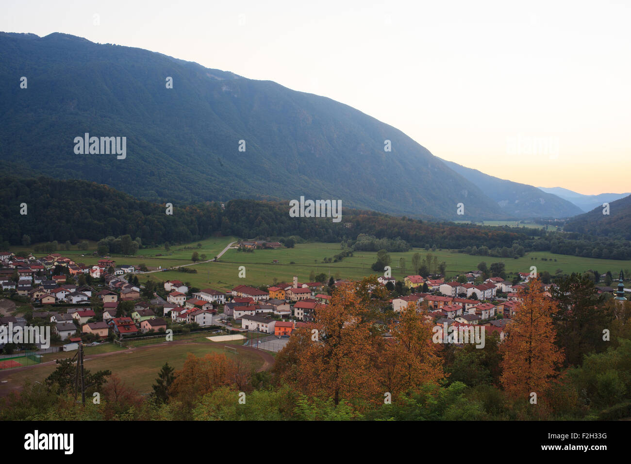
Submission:
M 589 213 L 574 217 L 563 230 L 631 240 L 631 195 L 611 201 L 608 215 L 603 214 L 603 210 L 601 204 Z

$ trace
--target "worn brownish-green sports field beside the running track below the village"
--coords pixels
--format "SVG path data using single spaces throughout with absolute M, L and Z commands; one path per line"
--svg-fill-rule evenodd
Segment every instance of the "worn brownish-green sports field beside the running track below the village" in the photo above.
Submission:
M 133 385 L 141 393 L 151 391 L 151 385 L 158 376 L 158 371 L 165 362 L 175 369 L 182 369 L 187 354 L 192 353 L 196 356 L 203 356 L 210 353 L 223 353 L 228 358 L 241 359 L 249 362 L 252 367 L 258 368 L 262 365 L 261 358 L 255 353 L 242 352 L 241 354 L 233 354 L 223 348 L 224 343 L 215 343 L 206 338 L 191 340 L 184 345 L 173 345 L 169 347 L 155 346 L 141 348 L 136 350 L 123 349 L 119 353 L 107 356 L 86 359 L 85 369 L 96 372 L 102 369 L 109 369 L 112 373 L 119 376 L 122 381 L 128 385 Z M 87 351 L 86 351 L 87 354 Z M 74 355 L 74 352 L 73 352 Z M 8 383 L 0 383 L 0 396 L 6 395 L 11 386 L 23 384 L 25 381 L 42 382 L 49 374 L 54 371 L 54 364 L 47 366 L 37 366 L 23 371 L 16 369 L 8 369 L 0 371 L 0 378 L 7 380 Z

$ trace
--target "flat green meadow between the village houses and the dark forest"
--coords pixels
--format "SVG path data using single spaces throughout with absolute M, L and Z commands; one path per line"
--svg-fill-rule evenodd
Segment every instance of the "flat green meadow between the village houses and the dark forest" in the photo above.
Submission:
M 190 282 L 194 287 L 214 287 L 227 290 L 244 283 L 248 285 L 271 284 L 274 277 L 278 282 L 291 282 L 293 275 L 297 275 L 300 282 L 307 282 L 311 271 L 314 271 L 315 274 L 324 272 L 326 275 L 340 278 L 361 278 L 375 273 L 370 269 L 370 266 L 377 260 L 377 253 L 375 252 L 358 251 L 355 256 L 345 258 L 338 263 L 322 263 L 323 258 L 332 258 L 339 251 L 339 244 L 336 243 L 296 244 L 294 248 L 290 249 L 256 250 L 254 253 L 230 249 L 216 263 L 191 266 L 198 271 L 196 274 L 169 271 L 144 276 L 144 279 L 152 278 L 159 281 L 178 279 Z M 600 273 L 611 270 L 612 273 L 616 274 L 620 269 L 631 268 L 631 261 L 581 258 L 547 252 L 533 252 L 522 258 L 512 259 L 471 256 L 465 253 L 451 253 L 449 250 L 427 252 L 425 249 L 413 249 L 406 253 L 390 253 L 392 277 L 399 279 L 413 272 L 411 269 L 412 256 L 417 251 L 423 258 L 427 256 L 427 253 L 431 253 L 432 257 L 437 256 L 439 263 L 445 261 L 447 263 L 447 277 L 475 270 L 481 261 L 486 261 L 487 265 L 495 261 L 504 261 L 507 273 L 529 272 L 530 266 L 537 266 L 538 271 L 548 271 L 552 274 L 557 269 L 571 273 L 586 271 L 590 268 L 595 268 Z M 400 258 L 405 260 L 406 268 L 404 269 L 398 267 Z M 548 261 L 541 261 L 541 258 L 546 258 Z M 555 259 L 557 261 L 554 261 Z M 278 260 L 278 263 L 273 263 L 273 260 Z M 245 266 L 245 278 L 239 278 L 239 266 Z M 143 276 L 139 276 L 139 278 L 143 280 Z

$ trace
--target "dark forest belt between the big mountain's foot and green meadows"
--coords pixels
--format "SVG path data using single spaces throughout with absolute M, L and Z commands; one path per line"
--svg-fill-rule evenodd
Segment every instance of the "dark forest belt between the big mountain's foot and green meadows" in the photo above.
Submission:
M 592 258 L 631 259 L 631 242 L 578 232 L 515 229 L 453 222 L 428 222 L 345 208 L 340 223 L 290 217 L 282 201 L 233 199 L 225 203 L 158 205 L 95 182 L 47 177 L 8 177 L 0 188 L 0 244 L 78 244 L 129 235 L 139 246 L 185 243 L 212 235 L 242 239 L 357 242 L 355 249 L 380 249 L 365 236 L 387 240 L 389 251 L 437 246 L 480 256 L 510 258 L 550 251 Z M 168 211 L 172 210 L 172 214 Z

